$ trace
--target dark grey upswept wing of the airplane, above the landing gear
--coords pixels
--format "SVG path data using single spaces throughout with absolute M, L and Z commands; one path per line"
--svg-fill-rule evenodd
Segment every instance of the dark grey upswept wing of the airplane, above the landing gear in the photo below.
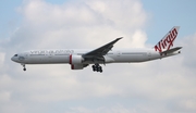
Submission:
M 122 39 L 122 37 L 117 38 L 115 40 L 113 40 L 100 48 L 97 48 L 90 52 L 83 54 L 83 58 L 102 58 L 102 55 L 106 55 L 113 48 L 113 45 L 117 41 L 119 41 L 120 39 Z

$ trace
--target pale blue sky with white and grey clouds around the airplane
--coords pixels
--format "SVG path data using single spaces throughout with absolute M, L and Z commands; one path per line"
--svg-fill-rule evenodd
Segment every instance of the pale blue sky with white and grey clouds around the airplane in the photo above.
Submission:
M 0 113 L 196 113 L 195 0 L 1 0 Z M 103 73 L 10 60 L 32 49 L 151 48 L 173 26 L 182 53 Z

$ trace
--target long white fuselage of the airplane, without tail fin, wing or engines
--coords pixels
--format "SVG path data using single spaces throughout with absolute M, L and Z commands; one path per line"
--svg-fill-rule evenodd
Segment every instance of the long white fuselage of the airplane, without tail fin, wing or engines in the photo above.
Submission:
M 70 63 L 70 54 L 83 55 L 89 52 L 89 50 L 76 50 L 76 49 L 56 49 L 56 50 L 30 50 L 22 53 L 17 53 L 12 56 L 12 61 L 21 64 L 58 64 Z M 174 52 L 167 55 L 160 55 L 155 49 L 121 49 L 109 51 L 103 58 L 105 63 L 132 63 L 132 62 L 145 62 L 156 59 L 162 59 L 166 56 L 177 54 Z M 95 62 L 82 62 L 82 64 L 94 64 Z M 102 63 L 102 62 L 99 62 Z

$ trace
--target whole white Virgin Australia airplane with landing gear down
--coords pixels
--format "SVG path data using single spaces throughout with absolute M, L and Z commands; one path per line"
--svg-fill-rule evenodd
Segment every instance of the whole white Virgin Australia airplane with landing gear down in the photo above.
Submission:
M 21 63 L 26 71 L 26 64 L 60 64 L 69 63 L 72 70 L 83 70 L 93 64 L 94 72 L 102 73 L 100 64 L 107 63 L 136 63 L 162 59 L 181 53 L 182 47 L 173 47 L 179 34 L 179 26 L 174 26 L 151 49 L 119 49 L 111 50 L 122 37 L 94 50 L 57 49 L 57 50 L 30 50 L 16 53 L 12 61 Z

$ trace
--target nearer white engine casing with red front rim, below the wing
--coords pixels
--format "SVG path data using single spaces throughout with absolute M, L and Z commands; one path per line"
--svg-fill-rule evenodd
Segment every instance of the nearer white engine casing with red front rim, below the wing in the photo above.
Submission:
M 70 55 L 70 64 L 81 64 L 84 61 L 82 55 Z

